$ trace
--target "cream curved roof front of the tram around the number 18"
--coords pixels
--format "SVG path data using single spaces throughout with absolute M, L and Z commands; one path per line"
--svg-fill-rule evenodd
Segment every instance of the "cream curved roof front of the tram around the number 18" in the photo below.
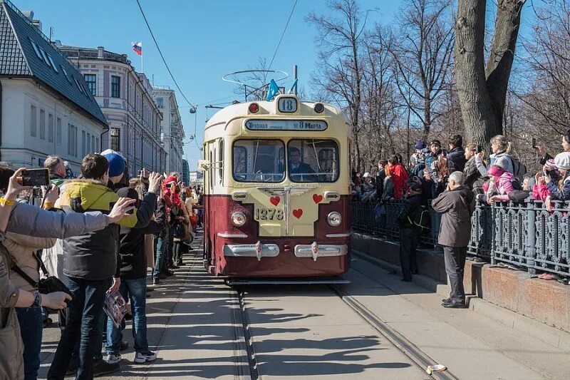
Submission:
M 294 97 L 291 95 L 287 95 L 288 97 Z M 277 98 L 279 98 L 278 96 Z M 277 108 L 277 98 L 274 101 L 251 101 L 251 102 L 244 102 L 244 103 L 236 103 L 232 104 L 231 106 L 227 106 L 222 110 L 214 113 L 212 118 L 206 123 L 204 129 L 208 129 L 212 125 L 219 125 L 220 123 L 227 123 L 230 120 L 235 118 L 250 118 L 256 116 L 271 116 L 271 115 L 282 115 L 282 116 L 289 116 L 289 117 L 307 117 L 307 116 L 314 116 L 318 117 L 338 117 L 341 116 L 345 118 L 343 112 L 336 108 L 335 106 L 331 106 L 330 104 L 322 103 L 325 106 L 325 111 L 322 113 L 316 113 L 314 111 L 314 105 L 320 102 L 308 102 L 308 101 L 297 101 L 299 102 L 300 113 L 278 113 L 276 111 Z M 250 113 L 249 112 L 249 105 L 252 103 L 257 103 L 259 105 L 259 111 L 257 113 Z

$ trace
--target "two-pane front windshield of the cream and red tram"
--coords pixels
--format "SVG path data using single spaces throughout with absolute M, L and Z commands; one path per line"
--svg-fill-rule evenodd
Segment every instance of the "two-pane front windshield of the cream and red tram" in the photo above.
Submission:
M 287 163 L 281 140 L 236 140 L 233 153 L 233 175 L 238 182 L 280 183 L 286 171 L 297 183 L 338 180 L 338 145 L 333 140 L 290 140 Z

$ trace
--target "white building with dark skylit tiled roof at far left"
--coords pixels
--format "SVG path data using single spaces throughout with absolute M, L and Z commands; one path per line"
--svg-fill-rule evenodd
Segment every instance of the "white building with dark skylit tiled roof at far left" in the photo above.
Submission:
M 0 161 L 38 168 L 47 155 L 81 160 L 100 151 L 108 123 L 78 69 L 27 16 L 0 1 Z

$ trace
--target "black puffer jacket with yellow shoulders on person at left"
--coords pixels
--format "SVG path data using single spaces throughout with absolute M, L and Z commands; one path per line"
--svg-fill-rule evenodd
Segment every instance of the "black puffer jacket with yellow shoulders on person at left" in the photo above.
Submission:
M 70 180 L 66 182 L 56 207 L 70 213 L 100 211 L 108 214 L 117 200 L 117 194 L 98 181 Z M 136 222 L 137 215 L 133 212 L 118 224 L 134 227 Z M 92 281 L 118 277 L 118 242 L 119 226 L 115 224 L 64 240 L 66 265 L 63 273 L 68 277 Z

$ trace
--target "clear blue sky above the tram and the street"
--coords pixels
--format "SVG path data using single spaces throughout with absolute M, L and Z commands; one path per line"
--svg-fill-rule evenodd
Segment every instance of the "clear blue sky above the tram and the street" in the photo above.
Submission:
M 127 53 L 137 71 L 140 57 L 131 48 L 142 41 L 144 73 L 156 85 L 170 86 L 164 63 L 142 19 L 136 0 L 11 0 L 21 11 L 32 10 L 42 22 L 43 33 L 64 45 L 96 48 L 104 46 L 114 53 Z M 257 66 L 259 58 L 269 62 L 276 51 L 295 0 L 140 0 L 170 69 L 190 103 L 177 91 L 182 124 L 185 128 L 185 158 L 195 170 L 202 144 L 202 130 L 215 111 L 204 108 L 211 103 L 242 100 L 234 85 L 222 76 Z M 332 15 L 326 0 L 297 0 L 291 21 L 271 68 L 292 77 L 299 67 L 299 86 L 310 91 L 311 73 L 318 72 L 317 31 L 306 21 L 311 12 Z M 389 24 L 401 0 L 358 0 L 361 9 L 377 9 L 369 22 Z M 289 79 L 284 85 L 289 88 Z M 219 101 L 222 99 L 222 101 Z M 196 135 L 190 141 L 190 135 Z

